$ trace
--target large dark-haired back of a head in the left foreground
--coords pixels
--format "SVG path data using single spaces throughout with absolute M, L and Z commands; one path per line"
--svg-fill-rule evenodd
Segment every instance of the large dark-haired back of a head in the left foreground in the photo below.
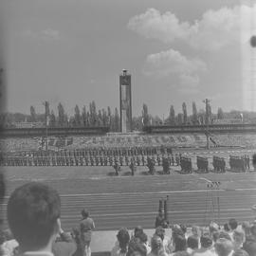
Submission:
M 21 247 L 45 247 L 61 214 L 61 199 L 55 190 L 39 182 L 27 183 L 11 193 L 8 221 Z

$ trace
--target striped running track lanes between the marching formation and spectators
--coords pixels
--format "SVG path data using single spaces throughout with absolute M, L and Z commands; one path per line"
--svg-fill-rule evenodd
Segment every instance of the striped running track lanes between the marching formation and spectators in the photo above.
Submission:
M 52 173 L 52 169 L 48 170 Z M 38 175 L 38 179 L 61 194 L 62 223 L 66 230 L 77 226 L 83 207 L 90 210 L 98 230 L 133 229 L 137 225 L 153 228 L 158 200 L 166 195 L 169 195 L 169 219 L 172 223 L 205 225 L 211 219 L 225 223 L 230 217 L 244 221 L 255 216 L 250 208 L 256 204 L 256 174 L 60 176 L 59 179 L 51 179 L 50 173 L 47 176 L 44 172 L 44 176 Z M 208 189 L 207 181 L 202 177 L 220 181 L 219 189 Z M 23 176 L 9 180 L 8 194 L 27 179 Z M 4 215 L 5 212 L 6 204 Z

